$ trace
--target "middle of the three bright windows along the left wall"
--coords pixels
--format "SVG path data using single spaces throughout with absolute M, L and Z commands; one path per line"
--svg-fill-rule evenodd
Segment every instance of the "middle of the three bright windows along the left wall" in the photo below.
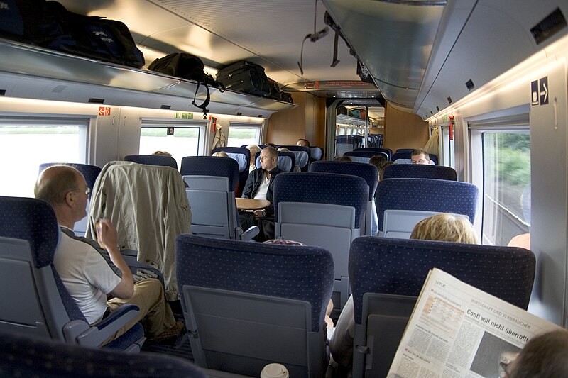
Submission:
M 172 157 L 181 165 L 185 156 L 197 156 L 203 150 L 200 137 L 204 135 L 207 121 L 187 123 L 161 123 L 142 121 L 140 131 L 141 154 L 151 154 L 155 151 L 170 152 Z

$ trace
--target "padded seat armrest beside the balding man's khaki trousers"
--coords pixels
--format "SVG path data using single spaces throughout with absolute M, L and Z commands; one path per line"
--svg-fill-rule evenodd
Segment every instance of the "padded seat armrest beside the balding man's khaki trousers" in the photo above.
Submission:
M 100 323 L 90 326 L 87 330 L 75 335 L 75 340 L 80 345 L 87 347 L 98 347 L 104 340 L 107 340 L 111 335 L 114 335 L 117 330 L 126 326 L 138 315 L 140 308 L 133 304 L 124 304 L 112 311 L 107 318 L 104 318 Z M 73 322 L 65 326 L 67 328 Z M 84 322 L 82 322 L 84 323 Z

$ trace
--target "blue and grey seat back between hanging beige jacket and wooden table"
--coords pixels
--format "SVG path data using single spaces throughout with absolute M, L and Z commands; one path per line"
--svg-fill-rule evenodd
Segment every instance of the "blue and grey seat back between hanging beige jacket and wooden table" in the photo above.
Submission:
M 243 230 L 235 204 L 235 188 L 239 182 L 236 160 L 186 156 L 182 159 L 181 174 L 192 209 L 192 234 L 239 239 Z

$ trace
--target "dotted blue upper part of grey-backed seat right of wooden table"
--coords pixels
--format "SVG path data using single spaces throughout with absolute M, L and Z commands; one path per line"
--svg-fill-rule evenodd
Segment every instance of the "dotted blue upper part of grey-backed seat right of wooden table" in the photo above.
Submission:
M 346 174 L 295 172 L 274 179 L 274 210 L 278 221 L 279 202 L 312 202 L 355 208 L 355 228 L 360 228 L 366 209 L 368 185 L 361 177 Z

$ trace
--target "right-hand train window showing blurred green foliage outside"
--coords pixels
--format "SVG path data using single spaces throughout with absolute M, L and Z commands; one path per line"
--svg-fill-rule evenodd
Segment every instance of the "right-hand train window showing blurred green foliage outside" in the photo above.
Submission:
M 528 130 L 481 133 L 484 244 L 507 245 L 530 232 L 530 134 Z

